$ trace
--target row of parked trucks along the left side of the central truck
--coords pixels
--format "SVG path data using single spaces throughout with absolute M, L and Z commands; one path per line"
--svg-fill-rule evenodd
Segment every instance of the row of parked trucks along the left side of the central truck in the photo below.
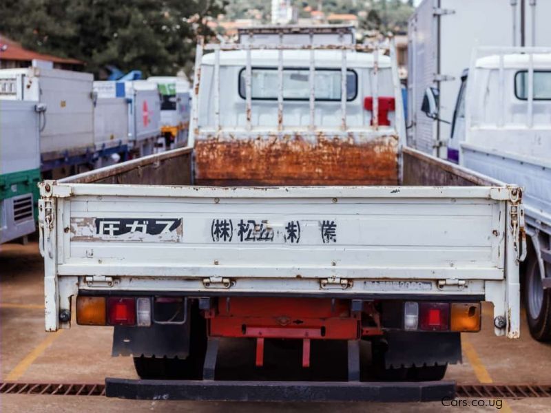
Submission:
M 189 86 L 175 77 L 93 81 L 92 74 L 51 67 L 2 69 L 0 112 L 3 243 L 36 229 L 41 176 L 185 146 Z

